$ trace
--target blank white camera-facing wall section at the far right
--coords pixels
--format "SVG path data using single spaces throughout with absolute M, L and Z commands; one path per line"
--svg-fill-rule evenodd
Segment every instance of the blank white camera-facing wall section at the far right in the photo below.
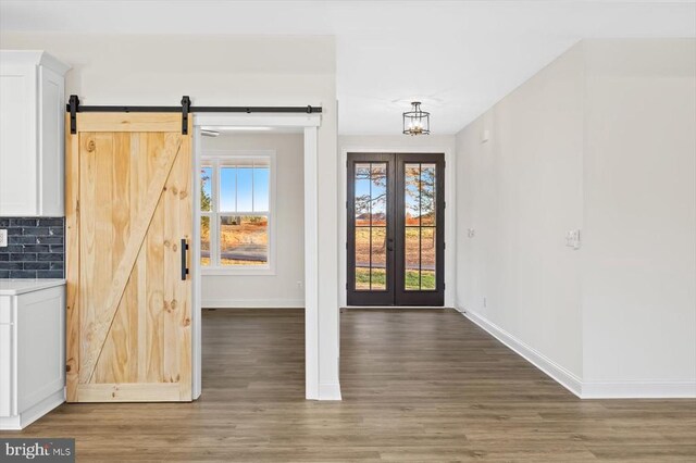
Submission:
M 589 40 L 587 393 L 696 396 L 696 40 Z

